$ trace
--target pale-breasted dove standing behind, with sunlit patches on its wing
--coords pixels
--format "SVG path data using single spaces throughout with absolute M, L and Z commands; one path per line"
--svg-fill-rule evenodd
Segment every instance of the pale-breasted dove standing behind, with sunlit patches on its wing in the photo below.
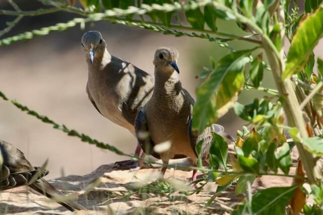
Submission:
M 88 65 L 86 92 L 93 106 L 104 117 L 135 135 L 135 117 L 152 95 L 153 77 L 111 55 L 98 31 L 83 35 L 82 49 Z M 135 156 L 140 157 L 140 153 L 141 147 L 137 145 Z M 138 163 L 132 167 L 138 167 Z

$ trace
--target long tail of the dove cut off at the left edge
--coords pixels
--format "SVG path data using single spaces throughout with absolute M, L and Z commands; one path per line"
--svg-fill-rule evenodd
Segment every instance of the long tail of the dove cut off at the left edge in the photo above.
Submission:
M 53 187 L 51 184 L 49 184 L 45 179 L 41 178 L 37 180 L 35 183 L 29 185 L 30 188 L 36 190 L 37 192 L 45 195 L 46 197 L 52 199 L 55 198 L 55 196 L 58 195 L 64 195 L 64 193 L 57 190 L 55 187 Z M 87 210 L 85 207 L 77 203 L 73 200 L 66 200 L 66 201 L 56 201 L 57 203 L 63 205 L 65 208 L 67 208 L 70 211 L 74 210 Z

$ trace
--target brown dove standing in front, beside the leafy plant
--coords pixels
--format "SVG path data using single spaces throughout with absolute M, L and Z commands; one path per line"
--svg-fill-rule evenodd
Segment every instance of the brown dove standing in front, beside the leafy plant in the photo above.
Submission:
M 211 132 L 223 132 L 221 125 L 213 124 L 200 135 L 191 132 L 192 106 L 194 99 L 182 88 L 177 65 L 178 51 L 159 48 L 154 55 L 155 86 L 147 104 L 136 117 L 135 129 L 138 141 L 146 154 L 160 158 L 164 164 L 176 154 L 190 157 L 197 163 L 195 146 L 203 139 L 203 155 L 208 155 L 212 142 Z M 159 144 L 166 146 L 163 152 L 155 152 Z M 208 146 L 207 146 L 208 145 Z M 162 147 L 163 148 L 163 147 Z M 204 158 L 205 159 L 205 158 Z M 167 167 L 161 169 L 164 175 Z M 196 170 L 192 180 L 196 179 Z

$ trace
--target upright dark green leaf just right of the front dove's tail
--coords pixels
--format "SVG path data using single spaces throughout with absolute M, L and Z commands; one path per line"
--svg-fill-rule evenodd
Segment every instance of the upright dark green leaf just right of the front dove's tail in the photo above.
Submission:
M 212 133 L 213 143 L 210 147 L 210 165 L 227 170 L 228 143 L 217 133 Z

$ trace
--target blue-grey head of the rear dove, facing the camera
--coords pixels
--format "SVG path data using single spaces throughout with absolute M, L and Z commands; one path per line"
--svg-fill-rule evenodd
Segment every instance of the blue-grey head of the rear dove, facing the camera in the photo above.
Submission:
M 86 53 L 90 63 L 103 56 L 106 44 L 98 31 L 88 31 L 82 36 L 82 49 Z

